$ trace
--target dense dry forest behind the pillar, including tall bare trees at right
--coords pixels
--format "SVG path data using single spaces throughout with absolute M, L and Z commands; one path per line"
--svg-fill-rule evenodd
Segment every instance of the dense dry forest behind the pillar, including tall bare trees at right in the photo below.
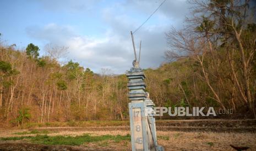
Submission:
M 255 118 L 256 24 L 249 1 L 190 1 L 193 16 L 182 30 L 166 33 L 171 60 L 145 69 L 147 91 L 156 106 L 232 108 Z M 203 15 L 202 15 L 203 14 Z M 125 74 L 101 74 L 70 60 L 62 65 L 47 47 L 0 46 L 0 118 L 28 121 L 126 119 Z M 55 54 L 55 55 L 53 55 Z

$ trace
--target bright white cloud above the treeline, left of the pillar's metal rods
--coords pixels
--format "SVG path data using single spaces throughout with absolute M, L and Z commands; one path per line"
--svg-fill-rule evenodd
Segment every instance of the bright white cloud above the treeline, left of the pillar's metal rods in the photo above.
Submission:
M 33 38 L 68 47 L 69 59 L 78 61 L 95 72 L 100 72 L 104 67 L 111 68 L 115 73 L 124 72 L 123 66 L 127 66 L 126 57 L 132 57 L 132 53 L 128 52 L 127 42 L 118 36 L 96 39 L 77 35 L 70 28 L 56 24 L 30 27 L 27 31 Z

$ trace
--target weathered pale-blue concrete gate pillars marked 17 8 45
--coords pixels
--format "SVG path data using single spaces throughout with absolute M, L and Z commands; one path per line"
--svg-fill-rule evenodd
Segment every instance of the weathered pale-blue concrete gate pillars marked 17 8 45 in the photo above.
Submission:
M 157 145 L 154 103 L 145 92 L 144 72 L 134 66 L 127 72 L 132 150 L 164 150 Z

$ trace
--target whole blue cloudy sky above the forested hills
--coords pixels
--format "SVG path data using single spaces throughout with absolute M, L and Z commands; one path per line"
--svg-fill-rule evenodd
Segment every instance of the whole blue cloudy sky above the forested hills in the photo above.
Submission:
M 61 58 L 73 60 L 95 73 L 110 69 L 125 73 L 134 60 L 130 31 L 138 28 L 163 0 L 1 0 L 0 33 L 2 42 L 25 49 L 38 45 L 67 47 Z M 141 68 L 156 68 L 165 62 L 165 33 L 181 28 L 189 14 L 186 0 L 166 0 L 134 34 Z

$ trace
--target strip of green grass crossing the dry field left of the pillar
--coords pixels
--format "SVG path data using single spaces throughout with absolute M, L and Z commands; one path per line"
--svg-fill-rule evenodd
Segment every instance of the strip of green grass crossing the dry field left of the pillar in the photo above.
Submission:
M 120 141 L 129 141 L 130 135 L 126 136 L 121 135 L 102 135 L 102 136 L 90 136 L 89 134 L 81 135 L 81 136 L 47 136 L 47 135 L 36 135 L 36 136 L 21 136 L 21 137 L 6 137 L 1 138 L 3 141 L 7 140 L 30 140 L 33 143 L 39 144 L 48 144 L 48 145 L 71 145 L 71 146 L 80 146 L 81 144 L 88 142 L 99 142 L 99 141 L 107 141 L 111 140 L 114 142 Z

